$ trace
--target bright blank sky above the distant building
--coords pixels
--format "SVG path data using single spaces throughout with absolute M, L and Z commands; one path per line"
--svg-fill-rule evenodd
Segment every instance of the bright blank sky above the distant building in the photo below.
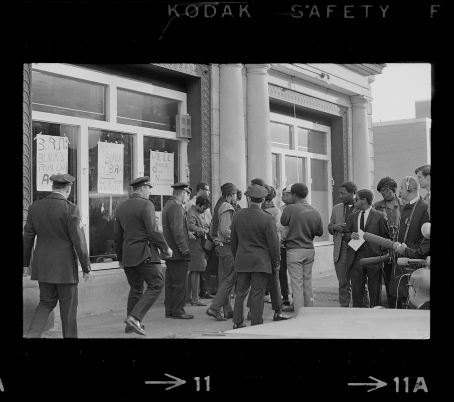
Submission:
M 387 63 L 375 75 L 372 88 L 372 121 L 415 118 L 415 100 L 431 98 L 429 63 Z

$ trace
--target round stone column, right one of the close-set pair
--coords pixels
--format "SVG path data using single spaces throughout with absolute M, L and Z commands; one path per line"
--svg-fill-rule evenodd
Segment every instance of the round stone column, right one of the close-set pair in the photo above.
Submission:
M 268 69 L 270 64 L 247 68 L 247 179 L 260 177 L 272 185 Z

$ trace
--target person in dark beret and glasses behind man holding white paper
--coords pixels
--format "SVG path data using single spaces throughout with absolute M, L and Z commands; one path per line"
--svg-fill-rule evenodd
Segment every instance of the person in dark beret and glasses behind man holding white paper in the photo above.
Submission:
M 377 184 L 377 191 L 381 194 L 383 199 L 374 203 L 374 207 L 377 211 L 386 213 L 386 216 L 388 217 L 389 234 L 391 235 L 391 239 L 393 239 L 397 233 L 397 225 L 400 220 L 402 209 L 407 202 L 396 195 L 397 182 L 392 177 L 383 177 Z M 383 280 L 385 281 L 386 298 L 390 309 L 396 304 L 393 295 L 389 292 L 391 271 L 392 263 L 385 262 L 383 265 Z

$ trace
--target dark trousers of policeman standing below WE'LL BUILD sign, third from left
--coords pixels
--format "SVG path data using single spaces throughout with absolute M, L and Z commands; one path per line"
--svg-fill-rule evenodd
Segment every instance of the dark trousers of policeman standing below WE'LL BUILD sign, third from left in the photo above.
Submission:
M 178 317 L 186 313 L 184 307 L 188 296 L 188 264 L 187 260 L 166 260 L 166 316 Z

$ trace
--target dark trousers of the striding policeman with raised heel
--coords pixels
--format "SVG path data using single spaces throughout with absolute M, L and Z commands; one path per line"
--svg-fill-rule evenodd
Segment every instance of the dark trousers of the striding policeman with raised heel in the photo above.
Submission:
M 127 315 L 142 321 L 163 291 L 163 270 L 158 264 L 142 262 L 135 267 L 124 267 L 124 273 L 130 286 Z M 145 291 L 143 291 L 143 281 L 146 283 Z

